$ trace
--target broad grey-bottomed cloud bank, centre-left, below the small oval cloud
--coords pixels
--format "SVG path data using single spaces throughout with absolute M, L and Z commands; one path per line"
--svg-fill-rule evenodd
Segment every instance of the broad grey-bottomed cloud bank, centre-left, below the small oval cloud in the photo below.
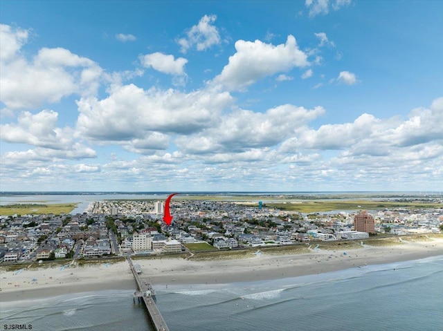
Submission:
M 230 105 L 227 92 L 169 89 L 145 91 L 134 84 L 116 86 L 109 97 L 78 101 L 78 136 L 92 140 L 143 139 L 147 132 L 192 133 L 213 124 Z

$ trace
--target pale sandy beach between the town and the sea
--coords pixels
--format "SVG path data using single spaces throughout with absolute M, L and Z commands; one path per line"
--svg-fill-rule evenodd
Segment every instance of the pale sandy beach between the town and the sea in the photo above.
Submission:
M 310 249 L 303 254 L 250 254 L 247 258 L 217 261 L 167 256 L 137 259 L 134 263 L 141 265 L 141 278 L 150 281 L 155 289 L 167 285 L 265 281 L 440 255 L 443 238 L 392 246 Z M 136 290 L 127 261 L 80 267 L 31 267 L 15 272 L 1 268 L 0 281 L 2 302 L 98 290 Z

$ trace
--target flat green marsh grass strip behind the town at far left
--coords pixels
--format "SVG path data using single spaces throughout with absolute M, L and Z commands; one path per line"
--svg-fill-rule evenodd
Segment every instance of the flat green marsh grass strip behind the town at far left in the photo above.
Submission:
M 64 204 L 15 204 L 0 206 L 0 215 L 12 216 L 12 215 L 39 215 L 39 214 L 69 214 L 73 209 L 77 207 L 76 203 L 64 203 Z

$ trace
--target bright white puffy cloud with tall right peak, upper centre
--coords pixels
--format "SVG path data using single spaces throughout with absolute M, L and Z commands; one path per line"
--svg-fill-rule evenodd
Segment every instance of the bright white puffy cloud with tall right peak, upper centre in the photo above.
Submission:
M 260 40 L 238 40 L 235 50 L 237 52 L 229 57 L 229 63 L 214 79 L 215 83 L 230 90 L 242 90 L 263 77 L 309 65 L 307 55 L 298 49 L 292 35 L 287 37 L 285 44 L 278 46 Z

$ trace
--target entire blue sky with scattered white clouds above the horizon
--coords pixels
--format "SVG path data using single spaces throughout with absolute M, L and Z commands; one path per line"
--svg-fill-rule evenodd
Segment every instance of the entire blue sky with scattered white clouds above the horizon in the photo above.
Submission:
M 0 1 L 0 191 L 443 191 L 443 1 Z

